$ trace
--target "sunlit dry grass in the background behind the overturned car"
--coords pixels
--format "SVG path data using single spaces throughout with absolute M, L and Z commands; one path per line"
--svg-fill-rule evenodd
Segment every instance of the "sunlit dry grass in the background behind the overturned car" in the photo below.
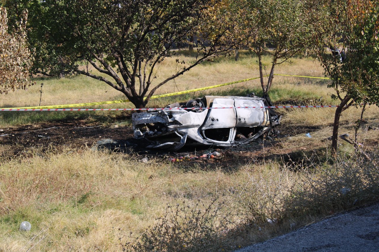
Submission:
M 157 94 L 177 92 L 178 90 L 193 89 L 196 87 L 207 87 L 224 82 L 236 81 L 245 78 L 257 77 L 258 64 L 257 58 L 251 53 L 245 53 L 241 56 L 241 61 L 235 62 L 233 58 L 221 57 L 215 62 L 204 62 L 196 66 L 192 71 L 185 73 L 175 81 L 169 81 L 166 85 L 158 89 Z M 193 58 L 185 55 L 177 55 L 164 60 L 158 68 L 157 79 L 153 83 L 157 84 L 165 78 L 175 73 L 175 69 L 180 67 L 175 63 L 175 59 L 181 61 L 192 61 Z M 269 59 L 265 58 L 264 63 L 269 66 Z M 96 70 L 89 68 L 94 73 L 99 74 Z M 314 69 L 314 70 L 312 70 Z M 315 72 L 311 72 L 315 71 Z M 318 63 L 311 58 L 293 59 L 293 63 L 284 63 L 277 67 L 276 73 L 285 74 L 300 74 L 307 73 L 311 76 L 322 76 L 322 68 Z M 300 80 L 299 78 L 281 77 L 288 83 L 295 85 L 308 81 Z M 28 90 L 17 90 L 11 92 L 0 101 L 0 107 L 14 106 L 37 106 L 39 104 L 40 84 L 42 87 L 42 103 L 41 105 L 54 104 L 71 104 L 85 103 L 94 101 L 108 101 L 114 99 L 125 99 L 122 93 L 114 90 L 107 84 L 86 76 L 67 76 L 65 78 L 36 78 L 37 84 L 30 87 Z M 260 87 L 259 81 L 250 81 L 242 84 L 235 84 L 237 87 Z M 229 86 L 230 87 L 230 86 Z M 222 89 L 228 89 L 223 87 Z M 109 106 L 109 105 L 106 105 Z M 118 104 L 118 107 L 131 107 L 132 104 Z

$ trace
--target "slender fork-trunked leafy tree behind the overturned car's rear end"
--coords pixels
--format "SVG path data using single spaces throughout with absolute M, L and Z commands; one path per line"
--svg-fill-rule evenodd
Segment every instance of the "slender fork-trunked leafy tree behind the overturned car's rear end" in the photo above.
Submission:
M 246 40 L 246 46 L 258 56 L 259 75 L 263 93 L 273 84 L 276 65 L 288 61 L 310 44 L 312 25 L 305 18 L 305 0 L 261 0 L 251 1 L 251 21 L 247 25 L 257 27 L 255 36 Z M 272 50 L 267 46 L 273 47 Z M 269 73 L 263 72 L 262 56 L 271 57 Z M 268 75 L 265 83 L 264 76 Z

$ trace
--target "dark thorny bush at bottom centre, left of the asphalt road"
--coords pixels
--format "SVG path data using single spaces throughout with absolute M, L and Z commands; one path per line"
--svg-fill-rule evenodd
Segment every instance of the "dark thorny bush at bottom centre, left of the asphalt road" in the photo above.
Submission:
M 221 251 L 235 249 L 236 223 L 224 202 L 197 201 L 190 206 L 167 205 L 157 224 L 133 242 L 121 244 L 123 251 Z M 132 233 L 129 235 L 132 237 Z M 120 237 L 121 240 L 121 237 Z

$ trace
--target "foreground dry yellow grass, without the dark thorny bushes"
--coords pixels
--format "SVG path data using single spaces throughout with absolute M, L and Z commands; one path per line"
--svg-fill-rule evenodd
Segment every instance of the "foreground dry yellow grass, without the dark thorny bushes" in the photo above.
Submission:
M 280 160 L 279 163 L 252 160 L 246 165 L 236 165 L 233 173 L 225 173 L 218 169 L 182 170 L 161 160 L 144 164 L 139 158 L 108 152 L 70 151 L 52 150 L 43 154 L 36 150 L 29 158 L 2 161 L 0 250 L 23 251 L 27 244 L 33 244 L 34 251 L 118 251 L 121 246 L 117 234 L 122 235 L 123 243 L 130 241 L 123 235 L 130 231 L 138 234 L 155 226 L 155 218 L 164 216 L 166 203 L 182 207 L 183 201 L 185 205 L 195 206 L 201 200 L 204 205 L 196 209 L 205 211 L 207 204 L 218 198 L 218 202 L 225 202 L 219 208 L 221 213 L 227 213 L 227 209 L 243 211 L 230 215 L 229 224 L 218 226 L 235 230 L 243 223 L 250 223 L 248 227 L 243 224 L 242 233 L 237 230 L 238 236 L 232 237 L 232 243 L 225 245 L 225 240 L 219 241 L 224 249 L 265 240 L 326 214 L 316 211 L 301 217 L 282 216 L 286 214 L 283 204 L 287 202 L 288 188 L 294 185 L 299 188 L 307 176 L 323 176 L 325 171 L 317 167 L 328 167 L 327 162 L 316 164 L 316 169 L 309 166 L 308 174 L 296 166 L 280 165 Z M 319 172 L 313 174 L 313 169 Z M 340 209 L 345 207 L 333 211 Z M 266 218 L 282 220 L 279 226 L 269 224 Z M 18 231 L 20 222 L 25 220 L 33 226 L 30 233 Z

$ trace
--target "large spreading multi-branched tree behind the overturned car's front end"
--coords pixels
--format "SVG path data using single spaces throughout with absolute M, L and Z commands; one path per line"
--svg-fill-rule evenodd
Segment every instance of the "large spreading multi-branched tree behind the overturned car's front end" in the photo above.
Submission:
M 210 0 L 45 0 L 21 1 L 30 11 L 31 42 L 36 47 L 34 73 L 76 73 L 105 82 L 124 93 L 138 108 L 153 93 L 207 58 L 226 54 L 243 38 L 226 39 L 233 27 L 225 16 L 212 16 L 217 1 Z M 18 6 L 10 0 L 8 5 Z M 14 8 L 16 9 L 16 8 Z M 217 22 L 213 22 L 216 19 Z M 193 62 L 154 83 L 158 65 L 175 54 L 188 37 L 200 30 Z M 215 35 L 215 31 L 218 31 Z M 88 62 L 99 74 L 80 68 Z

